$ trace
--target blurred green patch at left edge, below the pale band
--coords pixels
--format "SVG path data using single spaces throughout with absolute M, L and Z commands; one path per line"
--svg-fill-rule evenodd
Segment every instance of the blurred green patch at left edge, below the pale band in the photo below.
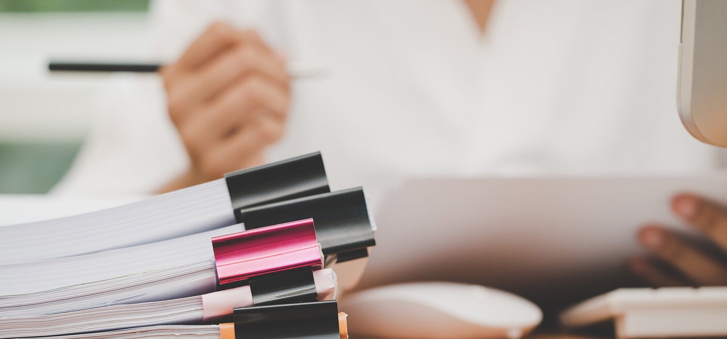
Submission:
M 0 194 L 48 192 L 63 177 L 80 143 L 0 143 Z

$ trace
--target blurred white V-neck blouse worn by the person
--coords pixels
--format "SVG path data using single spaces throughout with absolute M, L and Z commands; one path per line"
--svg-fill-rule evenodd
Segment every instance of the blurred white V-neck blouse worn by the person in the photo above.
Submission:
M 321 150 L 333 189 L 409 176 L 694 172 L 720 151 L 675 105 L 680 1 L 497 1 L 481 35 L 462 1 L 156 1 L 174 60 L 212 20 L 254 27 L 296 80 L 278 160 Z M 143 193 L 188 165 L 156 77 L 119 75 L 56 192 Z M 111 179 L 110 179 L 111 178 Z

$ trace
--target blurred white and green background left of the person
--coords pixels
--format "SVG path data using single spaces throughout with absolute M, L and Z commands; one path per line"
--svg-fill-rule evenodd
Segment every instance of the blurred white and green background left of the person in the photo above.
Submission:
M 145 56 L 149 0 L 0 0 L 0 194 L 44 193 L 93 121 L 97 76 L 54 75 L 47 60 Z

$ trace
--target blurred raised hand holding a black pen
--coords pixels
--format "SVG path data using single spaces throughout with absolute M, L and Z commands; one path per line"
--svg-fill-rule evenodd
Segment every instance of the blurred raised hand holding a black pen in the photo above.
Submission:
M 210 25 L 161 76 L 169 117 L 191 160 L 161 192 L 259 165 L 265 147 L 283 134 L 289 75 L 283 58 L 252 30 Z

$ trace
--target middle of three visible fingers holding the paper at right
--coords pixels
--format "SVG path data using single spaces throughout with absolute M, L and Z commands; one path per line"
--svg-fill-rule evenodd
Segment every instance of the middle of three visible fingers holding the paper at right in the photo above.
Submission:
M 727 284 L 727 268 L 715 259 L 696 250 L 661 226 L 645 226 L 638 233 L 639 242 L 651 253 L 676 269 L 697 285 Z

